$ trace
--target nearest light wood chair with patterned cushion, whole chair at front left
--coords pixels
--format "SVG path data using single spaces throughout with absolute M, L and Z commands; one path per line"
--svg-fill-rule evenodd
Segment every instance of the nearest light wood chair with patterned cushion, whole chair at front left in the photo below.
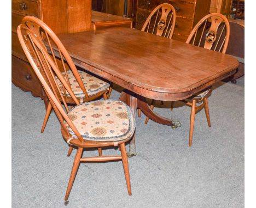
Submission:
M 69 193 L 77 174 L 80 162 L 103 162 L 122 160 L 126 185 L 131 195 L 131 183 L 129 166 L 125 149 L 135 131 L 135 115 L 132 109 L 124 102 L 118 100 L 98 100 L 80 103 L 74 94 L 68 80 L 57 68 L 55 61 L 49 55 L 42 41 L 39 41 L 36 33 L 26 25 L 21 24 L 17 29 L 21 46 L 30 62 L 39 81 L 42 83 L 50 105 L 61 123 L 61 133 L 68 144 L 78 148 L 74 158 L 71 176 L 65 195 Z M 60 84 L 56 81 L 59 78 Z M 69 110 L 63 95 L 63 90 L 69 94 L 69 99 L 75 103 L 75 107 Z M 61 100 L 59 99 L 61 97 Z M 61 105 L 61 101 L 64 105 Z M 119 146 L 120 156 L 103 156 L 102 148 Z M 82 157 L 84 148 L 98 148 L 98 156 Z

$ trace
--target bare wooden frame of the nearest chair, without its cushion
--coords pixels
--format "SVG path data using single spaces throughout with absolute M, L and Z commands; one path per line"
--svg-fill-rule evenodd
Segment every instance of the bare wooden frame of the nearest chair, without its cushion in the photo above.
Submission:
M 117 142 L 112 142 L 112 141 L 100 142 L 100 141 L 94 141 L 94 140 L 89 141 L 89 140 L 83 139 L 77 127 L 71 121 L 71 118 L 68 117 L 67 113 L 69 112 L 69 109 L 67 108 L 67 102 L 65 100 L 63 100 L 63 104 L 65 106 L 65 109 L 63 109 L 59 96 L 57 96 L 57 91 L 60 92 L 60 86 L 59 84 L 57 84 L 55 78 L 51 77 L 51 75 L 53 74 L 53 72 L 56 73 L 56 76 L 62 82 L 63 90 L 64 91 L 67 90 L 69 95 L 72 97 L 75 105 L 79 105 L 79 101 L 77 97 L 74 95 L 67 80 L 63 77 L 63 75 L 57 68 L 56 63 L 49 55 L 42 40 L 40 40 L 39 38 L 36 38 L 37 35 L 35 35 L 34 31 L 26 27 L 26 25 L 24 24 L 19 25 L 17 31 L 18 31 L 18 38 L 26 54 L 26 57 L 30 62 L 38 79 L 42 83 L 44 91 L 50 101 L 50 105 L 53 106 L 54 111 L 57 115 L 57 118 L 61 123 L 61 133 L 63 138 L 67 141 L 69 145 L 71 145 L 71 147 L 77 146 L 78 148 L 77 154 L 74 158 L 71 175 L 68 181 L 65 200 L 68 199 L 69 194 L 71 192 L 75 175 L 77 174 L 80 162 L 88 162 L 88 161 L 101 162 L 101 161 L 122 160 L 124 175 L 125 175 L 125 180 L 127 185 L 127 191 L 128 191 L 128 194 L 131 195 L 131 183 L 130 183 L 128 160 L 127 160 L 126 149 L 125 149 L 125 142 L 128 142 L 132 138 L 132 134 L 130 135 L 130 137 Z M 68 124 L 68 126 L 72 129 L 75 136 L 69 133 L 66 124 Z M 101 156 L 100 155 L 96 157 L 82 158 L 84 148 L 95 148 L 95 147 L 102 148 L 103 146 L 110 146 L 110 147 L 120 146 L 121 156 Z M 102 154 L 101 149 L 99 149 L 99 153 Z M 68 154 L 70 155 L 70 152 L 68 152 Z

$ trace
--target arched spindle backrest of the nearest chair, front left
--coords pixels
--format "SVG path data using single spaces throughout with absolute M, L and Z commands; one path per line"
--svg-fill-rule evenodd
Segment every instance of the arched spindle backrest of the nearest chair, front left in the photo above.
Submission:
M 39 81 L 42 83 L 44 91 L 48 96 L 54 111 L 60 120 L 61 126 L 68 133 L 67 126 L 65 122 L 71 127 L 80 142 L 84 142 L 84 139 L 79 134 L 77 128 L 72 123 L 71 119 L 68 117 L 69 112 L 67 103 L 62 95 L 61 88 L 65 89 L 69 95 L 70 99 L 73 99 L 75 104 L 79 104 L 77 97 L 75 97 L 70 85 L 66 81 L 65 77 L 61 74 L 59 68 L 57 68 L 56 63 L 50 56 L 45 48 L 42 41 L 38 39 L 38 34 L 34 33 L 33 30 L 28 28 L 26 25 L 21 24 L 17 28 L 18 38 L 22 49 L 24 50 L 28 61 L 30 62 L 34 72 L 36 73 Z M 55 75 L 59 78 L 61 82 L 60 85 L 56 82 Z M 66 111 L 61 105 L 61 100 L 66 108 Z

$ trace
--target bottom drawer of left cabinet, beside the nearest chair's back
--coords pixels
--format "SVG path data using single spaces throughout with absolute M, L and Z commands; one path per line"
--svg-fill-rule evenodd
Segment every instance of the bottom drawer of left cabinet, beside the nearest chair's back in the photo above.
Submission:
M 21 89 L 33 91 L 35 96 L 43 94 L 42 85 L 31 65 L 15 56 L 11 56 L 11 79 Z

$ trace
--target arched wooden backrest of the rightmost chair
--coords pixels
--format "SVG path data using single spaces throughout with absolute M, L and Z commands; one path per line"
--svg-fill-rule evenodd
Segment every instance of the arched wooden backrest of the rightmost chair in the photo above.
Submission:
M 229 35 L 228 19 L 222 14 L 211 13 L 203 17 L 196 24 L 186 42 L 213 51 L 226 53 Z

